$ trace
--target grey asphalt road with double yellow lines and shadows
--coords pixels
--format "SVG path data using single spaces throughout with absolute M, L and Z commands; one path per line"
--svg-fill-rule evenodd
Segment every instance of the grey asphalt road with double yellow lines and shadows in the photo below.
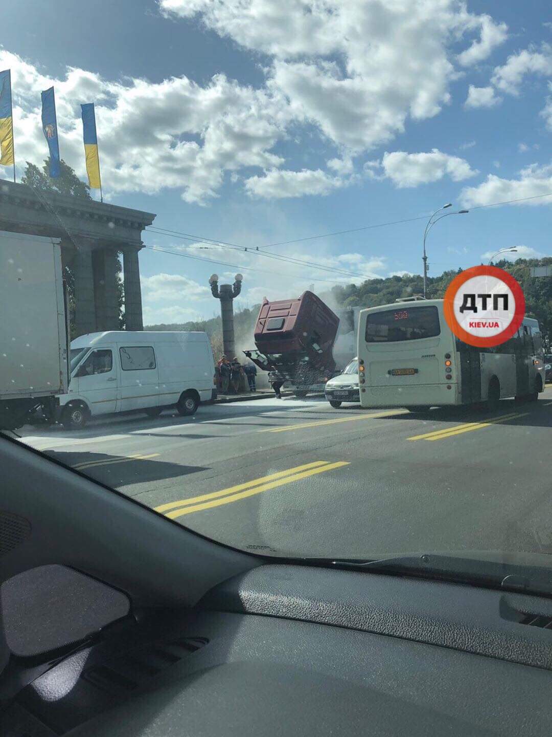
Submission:
M 261 399 L 23 441 L 238 548 L 552 553 L 551 387 L 490 414 Z

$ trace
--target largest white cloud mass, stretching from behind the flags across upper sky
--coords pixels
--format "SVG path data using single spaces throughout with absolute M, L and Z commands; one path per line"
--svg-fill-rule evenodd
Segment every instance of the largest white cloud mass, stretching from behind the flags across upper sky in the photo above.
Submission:
M 238 172 L 247 170 L 250 194 L 323 195 L 354 181 L 346 178 L 355 153 L 438 114 L 450 102 L 456 63 L 477 63 L 506 38 L 504 24 L 468 13 L 459 0 L 160 0 L 160 7 L 173 17 L 197 15 L 252 52 L 252 63 L 262 53 L 263 83 L 252 88 L 224 74 L 202 84 L 185 76 L 108 80 L 74 68 L 48 78 L 0 49 L 0 69 L 13 72 L 19 161 L 46 158 L 39 93 L 53 84 L 61 154 L 82 178 L 79 103 L 96 102 L 108 194 L 178 189 L 188 203 L 204 204 L 225 180 L 241 186 Z M 276 144 L 313 126 L 337 149 L 330 172 L 278 177 L 286 161 Z

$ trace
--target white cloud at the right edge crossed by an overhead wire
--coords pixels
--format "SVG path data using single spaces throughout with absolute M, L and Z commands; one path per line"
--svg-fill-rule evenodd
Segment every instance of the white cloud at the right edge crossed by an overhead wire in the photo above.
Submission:
M 549 192 L 552 192 L 552 164 L 545 166 L 531 164 L 520 171 L 517 179 L 503 179 L 495 174 L 489 174 L 482 184 L 464 187 L 460 193 L 460 202 L 462 206 L 470 208 L 476 205 L 547 195 Z M 552 198 L 542 197 L 526 200 L 520 204 L 549 205 L 551 203 Z

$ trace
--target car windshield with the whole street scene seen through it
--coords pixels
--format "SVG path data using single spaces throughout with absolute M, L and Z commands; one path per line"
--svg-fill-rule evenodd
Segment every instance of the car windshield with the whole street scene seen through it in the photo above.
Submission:
M 255 555 L 552 553 L 548 4 L 4 5 L 4 433 Z

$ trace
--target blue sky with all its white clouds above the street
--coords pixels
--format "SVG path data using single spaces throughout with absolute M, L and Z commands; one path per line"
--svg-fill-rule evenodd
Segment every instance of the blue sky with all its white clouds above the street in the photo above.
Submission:
M 79 105 L 95 102 L 106 200 L 155 212 L 159 228 L 255 248 L 422 217 L 449 201 L 552 192 L 545 0 L 9 6 L 0 69 L 12 69 L 21 164 L 46 157 L 38 105 L 53 84 L 61 154 L 85 178 Z M 551 208 L 552 197 L 448 217 L 428 239 L 430 273 L 505 247 L 551 256 Z M 213 271 L 230 279 L 243 268 L 248 305 L 311 283 L 320 292 L 420 273 L 423 227 L 266 251 L 301 265 L 147 233 L 147 245 L 173 253 L 141 251 L 145 318 L 213 315 Z

